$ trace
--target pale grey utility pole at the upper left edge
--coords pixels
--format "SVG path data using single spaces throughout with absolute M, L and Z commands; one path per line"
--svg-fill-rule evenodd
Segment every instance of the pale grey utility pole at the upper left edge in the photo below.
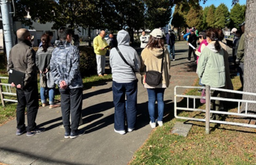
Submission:
M 12 15 L 11 15 L 11 2 L 9 0 L 0 0 L 1 5 L 1 20 L 3 21 L 3 32 L 5 40 L 5 49 L 7 55 L 7 62 L 9 59 L 9 52 L 14 46 L 14 31 L 12 24 Z

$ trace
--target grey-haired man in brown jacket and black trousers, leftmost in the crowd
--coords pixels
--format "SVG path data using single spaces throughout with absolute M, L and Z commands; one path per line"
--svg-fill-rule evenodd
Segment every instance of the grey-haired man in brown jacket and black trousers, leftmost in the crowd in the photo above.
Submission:
M 11 83 L 16 86 L 17 91 L 17 131 L 16 135 L 24 134 L 27 136 L 39 134 L 45 128 L 36 127 L 36 114 L 38 111 L 38 87 L 36 72 L 36 52 L 30 43 L 31 34 L 27 29 L 21 28 L 17 31 L 18 44 L 11 48 L 7 65 L 10 69 L 25 73 L 24 86 Z M 25 108 L 27 107 L 28 127 L 25 126 Z

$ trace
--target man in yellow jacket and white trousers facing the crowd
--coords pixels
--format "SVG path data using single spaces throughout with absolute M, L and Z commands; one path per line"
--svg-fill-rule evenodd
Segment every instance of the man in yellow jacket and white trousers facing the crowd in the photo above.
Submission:
M 94 53 L 96 54 L 97 61 L 97 73 L 99 76 L 106 76 L 105 66 L 106 66 L 106 53 L 109 48 L 107 41 L 104 39 L 106 36 L 105 31 L 100 31 L 100 34 L 93 39 Z

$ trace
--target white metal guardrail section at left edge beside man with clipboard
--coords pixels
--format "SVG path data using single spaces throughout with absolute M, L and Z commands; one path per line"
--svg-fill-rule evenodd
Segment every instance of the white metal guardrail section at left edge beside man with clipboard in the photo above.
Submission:
M 8 77 L 0 77 L 0 97 L 1 97 L 1 101 L 2 101 L 2 105 L 3 107 L 5 106 L 4 101 L 10 101 L 10 102 L 15 102 L 18 103 L 18 100 L 12 100 L 12 99 L 5 99 L 4 96 L 17 96 L 16 93 L 12 93 L 11 89 L 12 86 L 11 84 L 8 83 L 2 83 L 1 79 L 8 79 Z M 3 90 L 3 86 L 5 86 L 5 90 Z

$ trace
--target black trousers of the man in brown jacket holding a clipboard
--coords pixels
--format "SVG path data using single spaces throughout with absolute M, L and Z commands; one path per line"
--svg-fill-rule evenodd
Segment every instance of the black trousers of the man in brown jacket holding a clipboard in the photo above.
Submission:
M 36 128 L 36 114 L 38 111 L 38 87 L 37 82 L 29 83 L 24 89 L 16 90 L 17 93 L 17 128 L 25 129 L 25 108 L 27 107 L 28 127 L 27 131 L 33 131 Z

